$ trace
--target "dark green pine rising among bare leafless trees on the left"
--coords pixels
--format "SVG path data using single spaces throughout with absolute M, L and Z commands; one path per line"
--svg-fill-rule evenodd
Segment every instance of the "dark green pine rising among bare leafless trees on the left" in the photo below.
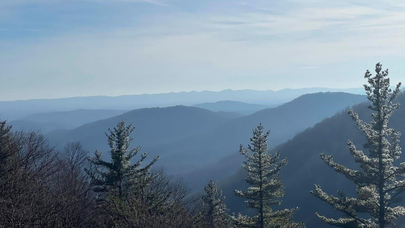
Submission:
M 131 159 L 141 151 L 141 146 L 130 148 L 130 142 L 134 139 L 130 134 L 135 127 L 132 124 L 126 126 L 125 120 L 119 121 L 116 127 L 108 129 L 109 151 L 111 162 L 102 159 L 102 153 L 94 152 L 95 157 L 89 157 L 89 161 L 96 167 L 95 170 L 87 170 L 93 179 L 96 192 L 115 192 L 119 198 L 131 191 L 136 184 L 136 179 L 145 176 L 159 156 L 153 157 L 146 166 L 140 167 L 149 153 L 142 153 L 136 163 L 131 164 Z

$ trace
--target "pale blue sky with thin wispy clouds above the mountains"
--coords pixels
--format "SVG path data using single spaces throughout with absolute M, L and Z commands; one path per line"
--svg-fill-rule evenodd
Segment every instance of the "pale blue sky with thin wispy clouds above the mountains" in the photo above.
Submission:
M 405 82 L 402 0 L 2 0 L 0 100 Z

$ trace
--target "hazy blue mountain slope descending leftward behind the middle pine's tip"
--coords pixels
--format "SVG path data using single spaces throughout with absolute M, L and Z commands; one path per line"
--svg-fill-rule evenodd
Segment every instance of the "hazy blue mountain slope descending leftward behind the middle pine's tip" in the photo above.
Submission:
M 271 146 L 276 146 L 322 119 L 363 101 L 366 101 L 366 97 L 363 95 L 343 92 L 302 95 L 276 108 L 260 110 L 254 114 L 230 120 L 211 132 L 189 137 L 182 142 L 165 144 L 162 159 L 166 154 L 170 157 L 181 157 L 183 163 L 190 164 L 194 170 L 198 166 L 201 168 L 201 170 L 196 171 L 198 179 L 208 181 L 206 179 L 209 179 L 211 174 L 214 175 L 213 178 L 220 179 L 224 177 L 222 175 L 235 172 L 239 168 L 239 161 L 242 158 L 238 158 L 236 161 L 218 161 L 232 155 L 232 153 L 237 153 L 239 144 L 247 144 L 252 129 L 259 123 L 274 132 L 269 136 L 269 140 Z M 153 149 L 156 151 L 163 150 L 161 145 L 157 145 Z M 207 164 L 214 163 L 216 164 L 207 168 Z M 229 166 L 224 165 L 226 163 L 229 163 Z M 167 166 L 170 165 L 171 163 L 168 163 Z M 187 170 L 179 171 L 184 173 Z M 191 186 L 194 186 L 195 179 L 192 176 L 194 175 L 190 175 L 189 178 L 187 175 L 185 179 L 190 181 Z

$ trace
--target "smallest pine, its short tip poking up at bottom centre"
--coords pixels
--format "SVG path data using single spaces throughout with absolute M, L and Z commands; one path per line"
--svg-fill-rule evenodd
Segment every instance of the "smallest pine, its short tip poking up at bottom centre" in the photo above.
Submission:
M 210 180 L 204 187 L 205 194 L 201 197 L 202 209 L 198 217 L 200 228 L 230 227 L 229 209 L 224 204 L 225 196 L 216 181 Z

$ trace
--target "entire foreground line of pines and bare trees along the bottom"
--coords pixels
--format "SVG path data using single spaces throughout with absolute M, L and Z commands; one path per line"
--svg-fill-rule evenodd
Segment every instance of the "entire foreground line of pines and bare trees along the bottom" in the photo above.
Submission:
M 326 224 L 393 228 L 395 219 L 405 215 L 401 205 L 405 163 L 397 162 L 401 133 L 388 128 L 391 114 L 399 107 L 395 99 L 401 83 L 390 89 L 388 70 L 383 71 L 379 63 L 374 76 L 366 71 L 364 77 L 372 120 L 362 121 L 353 110 L 349 114 L 367 139 L 363 148 L 369 153 L 347 142 L 361 170 L 320 155 L 356 184 L 356 197 L 341 191 L 330 195 L 319 185 L 311 194 L 341 212 L 337 219 L 316 213 Z M 216 181 L 210 180 L 204 194 L 196 196 L 180 177 L 155 168 L 159 156 L 148 158 L 141 146 L 131 147 L 134 130 L 125 120 L 108 129 L 111 160 L 106 161 L 98 150 L 87 157 L 79 142 L 56 151 L 39 132 L 12 131 L 12 126 L 0 121 L 0 227 L 305 228 L 303 222 L 294 221 L 298 207 L 275 209 L 285 194 L 280 172 L 288 159 L 281 159 L 280 151 L 268 151 L 270 132 L 261 124 L 253 130 L 251 144 L 240 145 L 249 187 L 234 194 L 246 199 L 252 212 L 247 215 L 230 213 Z

